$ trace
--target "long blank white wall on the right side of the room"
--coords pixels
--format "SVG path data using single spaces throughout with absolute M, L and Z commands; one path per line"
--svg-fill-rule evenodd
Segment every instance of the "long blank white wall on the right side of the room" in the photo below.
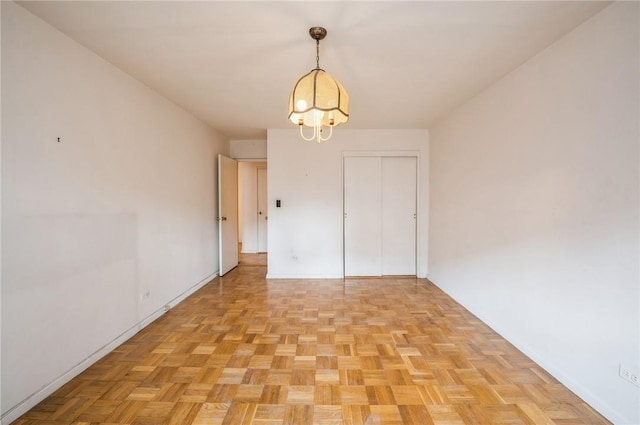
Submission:
M 640 423 L 638 4 L 430 129 L 429 278 L 618 424 Z

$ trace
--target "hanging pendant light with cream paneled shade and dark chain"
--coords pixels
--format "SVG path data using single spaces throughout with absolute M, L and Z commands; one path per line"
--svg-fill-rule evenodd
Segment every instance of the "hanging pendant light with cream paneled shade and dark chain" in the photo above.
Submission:
M 321 143 L 329 140 L 333 127 L 349 121 L 349 95 L 338 80 L 320 69 L 320 40 L 325 38 L 327 30 L 312 27 L 309 35 L 316 40 L 316 67 L 293 87 L 289 97 L 289 119 L 300 127 L 304 140 Z M 304 134 L 305 126 L 313 128 L 310 137 Z

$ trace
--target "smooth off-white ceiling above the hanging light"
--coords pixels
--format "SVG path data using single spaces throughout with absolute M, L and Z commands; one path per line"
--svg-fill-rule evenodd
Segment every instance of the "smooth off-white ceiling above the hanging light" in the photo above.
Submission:
M 594 1 L 27 1 L 19 4 L 230 139 L 293 128 L 320 65 L 345 128 L 428 128 L 606 7 Z

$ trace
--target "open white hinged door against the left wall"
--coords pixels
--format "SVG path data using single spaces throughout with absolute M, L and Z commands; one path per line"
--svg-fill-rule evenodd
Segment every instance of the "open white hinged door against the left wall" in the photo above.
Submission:
M 238 265 L 238 162 L 218 155 L 220 276 Z

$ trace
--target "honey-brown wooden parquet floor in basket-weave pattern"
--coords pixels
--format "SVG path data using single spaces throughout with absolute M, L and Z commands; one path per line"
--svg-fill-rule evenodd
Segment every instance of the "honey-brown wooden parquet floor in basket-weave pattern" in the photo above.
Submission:
M 427 280 L 244 264 L 14 424 L 609 423 Z

